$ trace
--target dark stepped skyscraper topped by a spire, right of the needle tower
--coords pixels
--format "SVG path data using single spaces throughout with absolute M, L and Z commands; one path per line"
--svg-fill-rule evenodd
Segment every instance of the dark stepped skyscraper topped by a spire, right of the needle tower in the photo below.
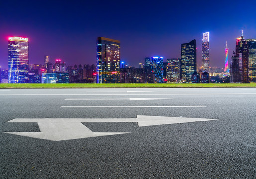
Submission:
M 231 83 L 249 83 L 249 46 L 248 42 L 243 37 L 237 38 L 236 51 L 231 60 Z

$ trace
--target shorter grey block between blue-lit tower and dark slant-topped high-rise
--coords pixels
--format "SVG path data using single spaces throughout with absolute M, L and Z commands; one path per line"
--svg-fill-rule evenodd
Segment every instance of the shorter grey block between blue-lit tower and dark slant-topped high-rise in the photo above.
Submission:
M 178 82 L 180 78 L 180 59 L 173 58 L 167 59 L 167 81 L 168 82 Z

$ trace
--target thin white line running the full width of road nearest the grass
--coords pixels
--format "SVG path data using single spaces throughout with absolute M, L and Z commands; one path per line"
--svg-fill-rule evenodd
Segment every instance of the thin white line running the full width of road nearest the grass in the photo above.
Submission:
M 0 96 L 115 96 L 115 95 L 256 95 L 256 93 L 212 93 L 212 94 L 0 94 Z

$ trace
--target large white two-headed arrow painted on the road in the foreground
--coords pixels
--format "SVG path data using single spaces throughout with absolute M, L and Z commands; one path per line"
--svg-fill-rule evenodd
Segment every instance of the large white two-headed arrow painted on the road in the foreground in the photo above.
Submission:
M 129 132 L 92 132 L 81 122 L 138 122 L 138 126 L 153 126 L 163 124 L 177 124 L 187 122 L 210 121 L 217 119 L 163 117 L 163 116 L 137 116 L 137 118 L 124 119 L 13 119 L 8 122 L 37 122 L 41 132 L 5 132 L 38 139 L 52 141 L 99 137 L 107 135 L 127 134 Z

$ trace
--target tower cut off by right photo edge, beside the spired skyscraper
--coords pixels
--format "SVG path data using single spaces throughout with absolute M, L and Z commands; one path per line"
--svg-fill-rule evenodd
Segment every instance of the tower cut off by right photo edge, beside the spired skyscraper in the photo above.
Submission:
M 256 39 L 247 39 L 249 81 L 256 83 Z

